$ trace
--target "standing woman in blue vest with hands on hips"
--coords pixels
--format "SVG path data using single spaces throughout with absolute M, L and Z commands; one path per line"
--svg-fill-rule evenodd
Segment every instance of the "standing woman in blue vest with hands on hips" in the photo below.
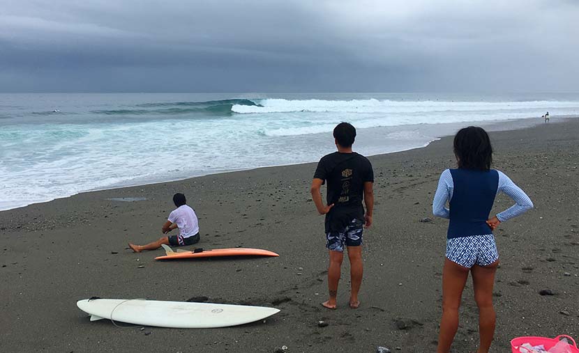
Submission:
M 442 272 L 442 319 L 437 353 L 449 353 L 458 329 L 458 308 L 469 272 L 479 307 L 479 350 L 487 353 L 495 334 L 492 286 L 499 253 L 492 230 L 501 222 L 531 209 L 533 203 L 509 177 L 490 168 L 492 146 L 481 127 L 465 127 L 454 136 L 458 168 L 440 175 L 433 201 L 435 216 L 450 219 Z M 495 197 L 502 191 L 515 205 L 490 217 Z M 449 208 L 446 208 L 446 202 Z

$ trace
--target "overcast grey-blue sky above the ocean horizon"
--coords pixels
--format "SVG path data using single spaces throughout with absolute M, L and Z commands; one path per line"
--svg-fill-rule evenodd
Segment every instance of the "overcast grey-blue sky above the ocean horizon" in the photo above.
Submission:
M 578 84 L 578 0 L 0 0 L 0 92 Z

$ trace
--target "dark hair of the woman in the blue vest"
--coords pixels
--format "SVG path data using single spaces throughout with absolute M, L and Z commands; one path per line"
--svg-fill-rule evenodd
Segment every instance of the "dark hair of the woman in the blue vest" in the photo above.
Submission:
M 492 146 L 486 131 L 476 126 L 460 129 L 454 136 L 454 155 L 458 168 L 490 170 Z

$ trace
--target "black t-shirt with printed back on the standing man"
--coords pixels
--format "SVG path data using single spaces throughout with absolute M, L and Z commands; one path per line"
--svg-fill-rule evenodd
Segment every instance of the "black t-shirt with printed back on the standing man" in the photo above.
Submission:
M 374 182 L 372 164 L 356 152 L 333 152 L 319 160 L 314 178 L 327 182 L 326 233 L 343 230 L 353 219 L 364 219 L 364 183 Z

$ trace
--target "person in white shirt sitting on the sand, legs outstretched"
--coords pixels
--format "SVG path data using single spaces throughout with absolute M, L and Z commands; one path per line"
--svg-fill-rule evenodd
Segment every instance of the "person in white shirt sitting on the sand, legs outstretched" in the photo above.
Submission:
M 186 246 L 193 245 L 199 242 L 199 221 L 197 214 L 193 208 L 186 204 L 185 195 L 174 194 L 173 203 L 177 207 L 169 214 L 169 218 L 163 224 L 163 234 L 169 233 L 175 228 L 179 228 L 179 235 L 170 235 L 161 237 L 156 242 L 146 245 L 135 245 L 128 243 L 130 249 L 135 253 L 140 253 L 143 250 L 155 250 L 160 248 L 161 244 L 170 244 L 172 246 Z

